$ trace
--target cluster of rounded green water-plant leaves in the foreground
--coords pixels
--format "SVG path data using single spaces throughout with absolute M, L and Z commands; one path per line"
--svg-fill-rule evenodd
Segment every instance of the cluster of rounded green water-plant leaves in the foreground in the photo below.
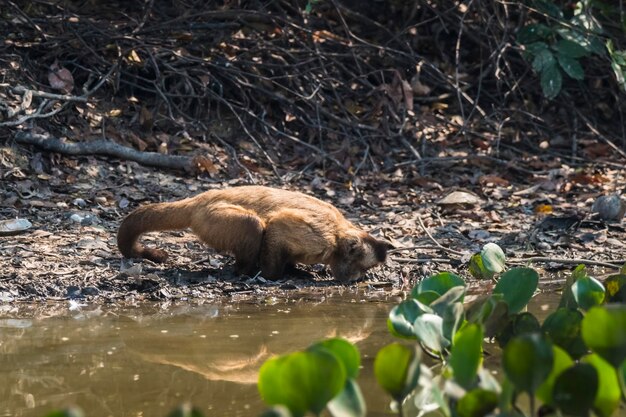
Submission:
M 465 306 L 465 282 L 444 272 L 422 280 L 391 309 L 387 327 L 399 341 L 379 350 L 374 375 L 392 408 L 400 416 L 613 415 L 626 397 L 626 267 L 605 285 L 577 267 L 558 308 L 540 323 L 525 311 L 539 274 L 505 271 L 504 253 L 494 246 L 470 262 L 479 278 L 501 274 L 491 294 Z M 482 366 L 483 352 L 495 344 L 503 349 L 500 382 Z M 427 366 L 424 355 L 435 365 Z M 263 416 L 325 409 L 334 417 L 365 416 L 360 366 L 356 346 L 340 338 L 267 360 L 258 388 L 272 408 Z M 200 416 L 191 406 L 170 414 Z

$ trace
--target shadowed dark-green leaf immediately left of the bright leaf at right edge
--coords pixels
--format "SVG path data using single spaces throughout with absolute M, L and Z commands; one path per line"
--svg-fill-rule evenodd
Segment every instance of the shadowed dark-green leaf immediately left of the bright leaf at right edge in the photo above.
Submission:
M 543 322 L 541 329 L 548 338 L 565 349 L 575 359 L 587 353 L 587 346 L 582 339 L 581 325 L 583 315 L 578 310 L 559 308 Z

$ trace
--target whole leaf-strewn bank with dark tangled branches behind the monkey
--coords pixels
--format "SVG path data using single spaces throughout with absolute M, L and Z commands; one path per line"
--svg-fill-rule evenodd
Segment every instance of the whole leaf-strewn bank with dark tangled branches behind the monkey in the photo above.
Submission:
M 624 263 L 623 212 L 592 213 L 626 184 L 624 94 L 591 57 L 584 82 L 543 98 L 513 28 L 545 16 L 497 1 L 231 3 L 3 11 L 0 221 L 33 226 L 0 224 L 0 302 L 388 297 L 438 271 L 469 277 L 487 242 L 509 266 L 534 258 L 544 287 L 577 262 Z M 134 153 L 69 156 L 25 144 L 36 135 Z M 145 238 L 168 263 L 122 265 L 117 227 L 138 205 L 249 183 L 332 202 L 396 249 L 348 286 L 315 266 L 235 276 L 187 232 Z

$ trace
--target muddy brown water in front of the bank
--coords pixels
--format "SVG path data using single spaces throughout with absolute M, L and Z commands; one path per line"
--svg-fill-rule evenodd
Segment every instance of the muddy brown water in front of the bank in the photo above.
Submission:
M 537 298 L 541 315 L 554 297 Z M 391 415 L 373 358 L 392 341 L 392 301 L 331 297 L 276 305 L 187 304 L 133 308 L 67 305 L 37 314 L 0 306 L 0 416 L 78 405 L 87 417 L 166 416 L 189 401 L 207 416 L 255 416 L 265 359 L 342 336 L 357 344 L 368 415 Z

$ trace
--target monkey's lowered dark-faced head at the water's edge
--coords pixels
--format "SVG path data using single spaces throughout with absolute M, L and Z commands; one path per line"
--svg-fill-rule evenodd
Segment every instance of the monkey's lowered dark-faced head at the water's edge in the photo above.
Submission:
M 387 250 L 393 246 L 363 231 L 355 231 L 339 238 L 337 249 L 330 263 L 335 279 L 351 281 L 362 276 L 368 269 L 387 259 Z

